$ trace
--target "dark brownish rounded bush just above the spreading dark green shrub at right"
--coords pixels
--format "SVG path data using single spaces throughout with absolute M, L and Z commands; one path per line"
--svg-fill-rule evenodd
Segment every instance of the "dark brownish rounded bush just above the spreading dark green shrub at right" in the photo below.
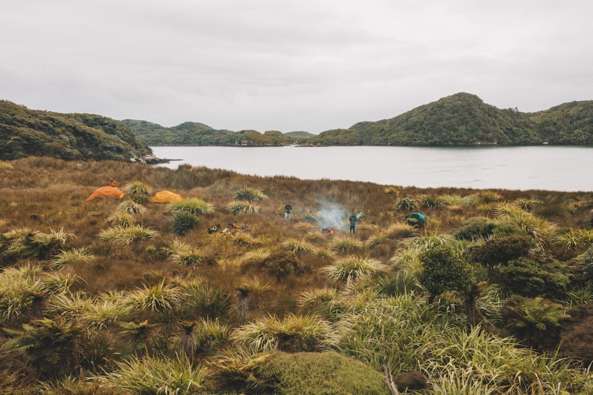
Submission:
M 529 255 L 531 245 L 523 236 L 500 237 L 489 239 L 483 245 L 471 249 L 471 260 L 484 266 L 506 265 L 512 259 Z

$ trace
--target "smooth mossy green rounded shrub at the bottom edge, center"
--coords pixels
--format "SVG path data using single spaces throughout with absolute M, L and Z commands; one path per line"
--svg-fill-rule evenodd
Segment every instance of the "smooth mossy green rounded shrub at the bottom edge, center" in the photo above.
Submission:
M 383 375 L 337 352 L 274 352 L 256 377 L 275 395 L 385 395 Z

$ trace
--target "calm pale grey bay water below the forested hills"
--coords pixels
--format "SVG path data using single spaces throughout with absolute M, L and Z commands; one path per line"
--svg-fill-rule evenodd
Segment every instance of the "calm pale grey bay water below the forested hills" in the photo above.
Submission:
M 159 166 L 420 188 L 593 191 L 593 147 L 152 147 Z

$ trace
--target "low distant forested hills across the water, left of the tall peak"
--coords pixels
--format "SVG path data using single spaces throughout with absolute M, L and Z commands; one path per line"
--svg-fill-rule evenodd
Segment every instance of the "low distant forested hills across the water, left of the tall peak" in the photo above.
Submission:
M 123 120 L 138 139 L 149 146 L 283 146 L 302 143 L 314 134 L 305 131 L 280 133 L 269 130 L 219 130 L 203 123 L 185 122 L 174 127 L 141 120 Z

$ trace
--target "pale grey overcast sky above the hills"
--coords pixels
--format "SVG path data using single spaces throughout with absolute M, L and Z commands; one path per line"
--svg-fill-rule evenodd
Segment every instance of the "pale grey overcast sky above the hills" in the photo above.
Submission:
M 18 0 L 0 99 L 215 129 L 323 130 L 468 92 L 593 99 L 591 0 Z

